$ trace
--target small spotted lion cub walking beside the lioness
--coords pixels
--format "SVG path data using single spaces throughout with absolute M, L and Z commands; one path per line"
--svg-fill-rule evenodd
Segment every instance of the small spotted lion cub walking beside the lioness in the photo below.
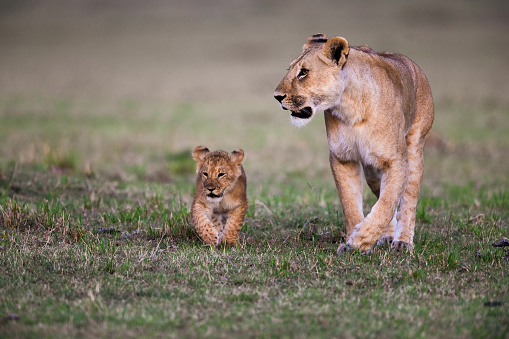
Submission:
M 196 194 L 191 216 L 201 239 L 208 245 L 235 244 L 247 210 L 244 151 L 210 152 L 198 146 Z

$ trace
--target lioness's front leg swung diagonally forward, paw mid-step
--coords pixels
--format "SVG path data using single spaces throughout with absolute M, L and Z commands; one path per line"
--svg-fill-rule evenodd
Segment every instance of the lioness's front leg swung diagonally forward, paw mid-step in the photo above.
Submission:
M 350 248 L 369 250 L 378 241 L 394 217 L 408 180 L 408 163 L 394 160 L 383 170 L 380 197 L 371 212 L 357 225 L 347 242 Z

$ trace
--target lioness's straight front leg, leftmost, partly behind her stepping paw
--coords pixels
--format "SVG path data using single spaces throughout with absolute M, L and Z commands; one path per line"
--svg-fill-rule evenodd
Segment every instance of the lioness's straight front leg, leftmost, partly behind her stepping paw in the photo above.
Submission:
M 343 208 L 346 238 L 349 239 L 355 225 L 364 218 L 361 165 L 357 162 L 341 162 L 332 153 L 329 154 L 329 162 Z

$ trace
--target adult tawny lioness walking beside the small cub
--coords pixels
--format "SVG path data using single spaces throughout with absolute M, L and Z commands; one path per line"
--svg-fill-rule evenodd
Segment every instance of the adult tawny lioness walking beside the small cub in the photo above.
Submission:
M 404 55 L 350 47 L 344 38 L 315 34 L 290 64 L 274 97 L 291 111 L 297 126 L 324 111 L 348 239 L 338 253 L 369 251 L 377 241 L 412 251 L 423 149 L 434 118 L 422 70 Z M 361 170 L 378 198 L 366 217 Z

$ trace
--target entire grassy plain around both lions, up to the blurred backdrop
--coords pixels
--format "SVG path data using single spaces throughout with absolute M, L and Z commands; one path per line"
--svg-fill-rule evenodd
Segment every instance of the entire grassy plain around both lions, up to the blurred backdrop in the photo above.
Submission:
M 0 337 L 507 338 L 506 5 L 20 3 L 0 5 Z M 336 255 L 323 118 L 293 128 L 271 98 L 320 31 L 430 78 L 413 254 Z M 189 223 L 200 144 L 246 152 L 236 247 Z

